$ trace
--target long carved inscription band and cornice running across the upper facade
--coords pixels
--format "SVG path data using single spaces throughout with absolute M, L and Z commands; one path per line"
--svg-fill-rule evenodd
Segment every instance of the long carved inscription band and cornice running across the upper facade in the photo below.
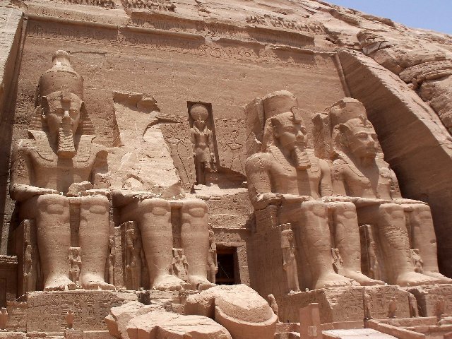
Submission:
M 165 52 L 194 54 L 200 57 L 245 61 L 263 64 L 295 66 L 304 69 L 335 69 L 329 54 L 314 54 L 299 49 L 274 48 L 262 46 L 260 49 L 246 44 L 209 42 L 200 40 L 172 39 L 162 35 L 134 32 L 127 28 L 108 30 L 106 28 L 88 28 L 74 25 L 55 25 L 52 23 L 31 22 L 30 37 L 64 39 L 84 43 L 121 45 L 144 49 L 157 49 Z

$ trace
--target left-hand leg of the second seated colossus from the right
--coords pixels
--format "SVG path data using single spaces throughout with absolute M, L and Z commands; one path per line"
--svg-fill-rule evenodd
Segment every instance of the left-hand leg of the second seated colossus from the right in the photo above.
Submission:
M 326 204 L 321 201 L 307 201 L 302 203 L 300 212 L 302 225 L 299 240 L 309 255 L 313 288 L 359 285 L 355 280 L 338 275 L 333 270 Z

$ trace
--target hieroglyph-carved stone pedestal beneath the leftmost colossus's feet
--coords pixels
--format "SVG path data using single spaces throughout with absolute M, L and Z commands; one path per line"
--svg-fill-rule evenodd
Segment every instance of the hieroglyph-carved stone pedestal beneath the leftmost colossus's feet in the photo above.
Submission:
M 32 292 L 28 295 L 27 331 L 62 332 L 73 309 L 74 328 L 106 330 L 109 309 L 136 300 L 132 293 L 107 291 Z

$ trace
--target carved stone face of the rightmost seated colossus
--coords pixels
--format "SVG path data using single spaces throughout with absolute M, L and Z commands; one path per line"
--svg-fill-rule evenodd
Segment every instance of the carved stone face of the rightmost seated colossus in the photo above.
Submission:
M 378 138 L 371 126 L 355 126 L 345 133 L 347 146 L 355 157 L 375 157 Z

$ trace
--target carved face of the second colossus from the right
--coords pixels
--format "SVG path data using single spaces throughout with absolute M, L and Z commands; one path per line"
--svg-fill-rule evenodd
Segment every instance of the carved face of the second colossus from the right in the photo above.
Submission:
M 273 124 L 273 136 L 287 150 L 303 149 L 308 141 L 306 126 L 303 121 L 290 117 L 291 114 L 287 114 L 287 117 L 284 116 L 285 119 L 278 119 L 278 122 Z

